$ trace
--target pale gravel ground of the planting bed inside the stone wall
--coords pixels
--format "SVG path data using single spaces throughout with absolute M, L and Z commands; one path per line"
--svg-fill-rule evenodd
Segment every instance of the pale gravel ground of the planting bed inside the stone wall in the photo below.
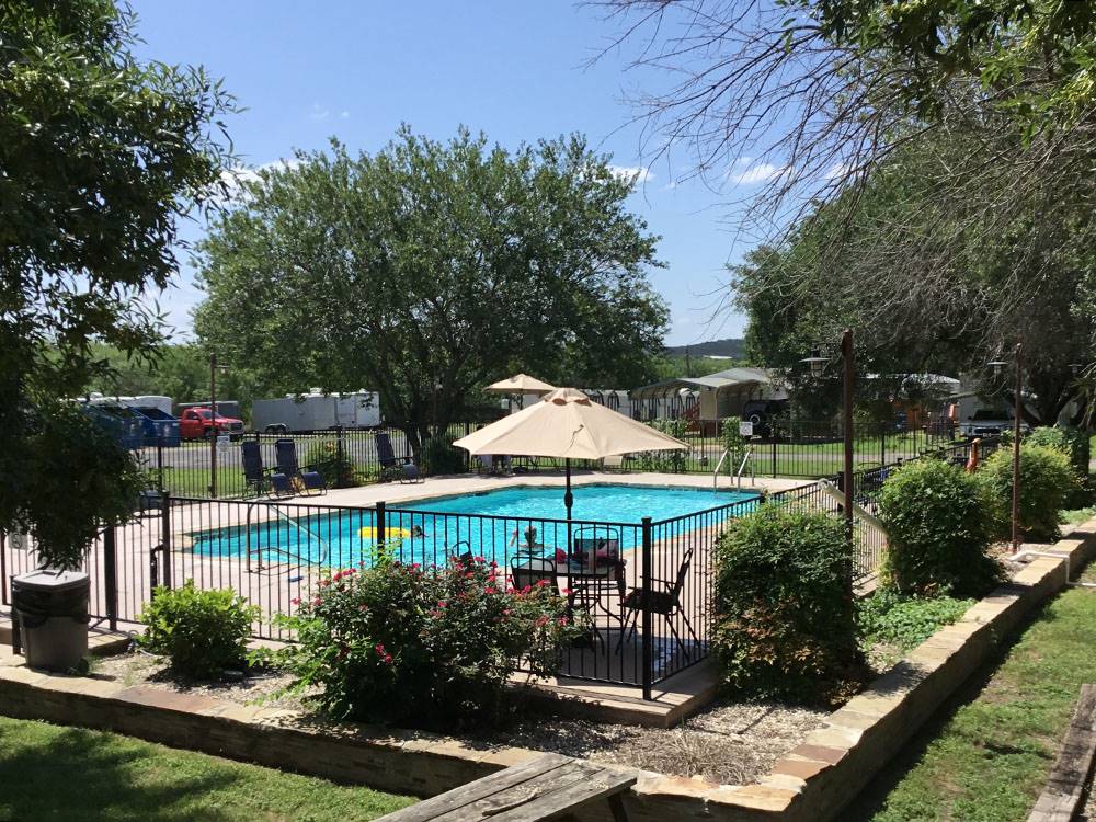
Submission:
M 300 697 L 277 697 L 289 677 L 267 675 L 242 683 L 195 683 L 171 674 L 162 658 L 147 653 L 98 660 L 92 675 L 125 685 L 148 685 L 179 693 L 308 710 Z M 672 776 L 700 777 L 746 785 L 768 773 L 773 763 L 820 727 L 827 711 L 768 703 L 715 703 L 674 729 L 591 722 L 530 711 L 515 724 L 470 741 L 528 747 L 580 756 Z

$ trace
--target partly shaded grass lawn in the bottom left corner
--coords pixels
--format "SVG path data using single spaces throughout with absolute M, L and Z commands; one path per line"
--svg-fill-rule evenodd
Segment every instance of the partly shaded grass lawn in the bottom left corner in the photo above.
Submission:
M 0 717 L 2 820 L 352 822 L 412 801 L 113 733 Z

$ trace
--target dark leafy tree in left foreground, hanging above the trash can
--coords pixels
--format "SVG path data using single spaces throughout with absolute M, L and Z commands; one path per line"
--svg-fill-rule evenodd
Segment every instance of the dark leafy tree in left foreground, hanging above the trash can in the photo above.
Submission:
M 158 341 L 149 295 L 175 271 L 176 222 L 228 159 L 230 99 L 199 69 L 136 60 L 134 26 L 109 0 L 0 5 L 0 529 L 46 515 L 25 467 L 91 436 L 55 401 L 102 369 L 93 342 Z

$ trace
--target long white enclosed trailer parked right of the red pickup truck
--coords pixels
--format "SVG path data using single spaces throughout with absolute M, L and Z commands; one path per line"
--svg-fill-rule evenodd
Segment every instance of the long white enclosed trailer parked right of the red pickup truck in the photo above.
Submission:
M 318 388 L 305 395 L 255 400 L 251 427 L 277 434 L 327 429 L 367 429 L 380 425 L 380 395 L 376 391 L 323 393 Z

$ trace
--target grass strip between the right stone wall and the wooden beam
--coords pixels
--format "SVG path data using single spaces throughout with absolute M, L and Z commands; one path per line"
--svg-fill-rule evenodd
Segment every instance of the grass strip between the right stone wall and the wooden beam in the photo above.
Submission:
M 964 688 L 843 819 L 1025 820 L 1081 685 L 1093 682 L 1096 592 L 1071 590 L 1040 612 L 1004 659 Z

